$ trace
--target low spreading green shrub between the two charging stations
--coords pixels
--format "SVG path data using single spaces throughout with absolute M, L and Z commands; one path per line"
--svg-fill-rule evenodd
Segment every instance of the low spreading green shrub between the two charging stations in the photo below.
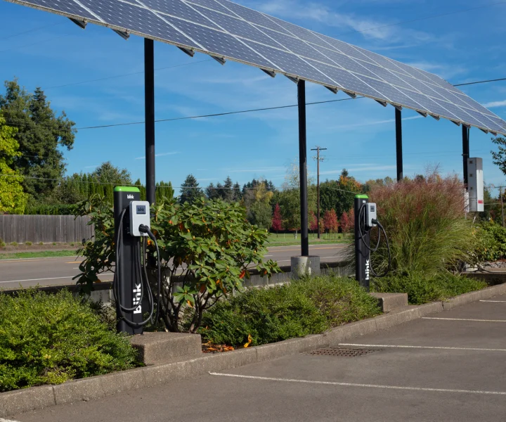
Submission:
M 336 276 L 247 290 L 204 314 L 200 333 L 215 344 L 242 346 L 304 337 L 378 314 L 377 301 L 356 281 Z

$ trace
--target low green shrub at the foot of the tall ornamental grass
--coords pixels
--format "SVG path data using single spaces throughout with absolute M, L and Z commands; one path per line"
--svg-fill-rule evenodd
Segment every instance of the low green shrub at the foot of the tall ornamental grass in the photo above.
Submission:
M 371 283 L 371 290 L 381 293 L 408 293 L 410 305 L 422 305 L 481 290 L 486 286 L 484 281 L 456 276 L 446 271 L 432 276 L 411 273 L 405 276 L 396 274 L 384 279 L 375 279 Z

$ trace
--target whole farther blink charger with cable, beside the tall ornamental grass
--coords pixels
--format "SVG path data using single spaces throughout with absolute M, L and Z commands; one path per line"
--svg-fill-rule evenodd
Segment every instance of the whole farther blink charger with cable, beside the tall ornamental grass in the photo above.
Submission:
M 355 279 L 360 285 L 369 290 L 372 276 L 384 277 L 390 271 L 391 255 L 387 233 L 377 219 L 377 206 L 369 202 L 367 195 L 355 196 Z M 370 234 L 374 227 L 377 227 L 377 244 L 375 248 L 370 247 Z M 384 234 L 387 242 L 388 268 L 384 274 L 377 274 L 371 264 L 371 252 L 380 248 L 381 234 Z

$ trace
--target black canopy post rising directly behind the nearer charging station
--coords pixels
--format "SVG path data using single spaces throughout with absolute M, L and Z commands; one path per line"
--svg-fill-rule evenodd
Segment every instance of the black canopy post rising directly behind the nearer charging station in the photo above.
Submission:
M 155 48 L 144 39 L 146 200 L 155 203 Z

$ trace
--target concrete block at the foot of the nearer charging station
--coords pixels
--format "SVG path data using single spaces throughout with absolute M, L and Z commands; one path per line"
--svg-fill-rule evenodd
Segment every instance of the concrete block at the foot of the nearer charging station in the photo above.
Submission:
M 167 364 L 175 359 L 202 354 L 200 334 L 147 332 L 134 335 L 130 343 L 138 350 L 138 358 L 145 365 Z

